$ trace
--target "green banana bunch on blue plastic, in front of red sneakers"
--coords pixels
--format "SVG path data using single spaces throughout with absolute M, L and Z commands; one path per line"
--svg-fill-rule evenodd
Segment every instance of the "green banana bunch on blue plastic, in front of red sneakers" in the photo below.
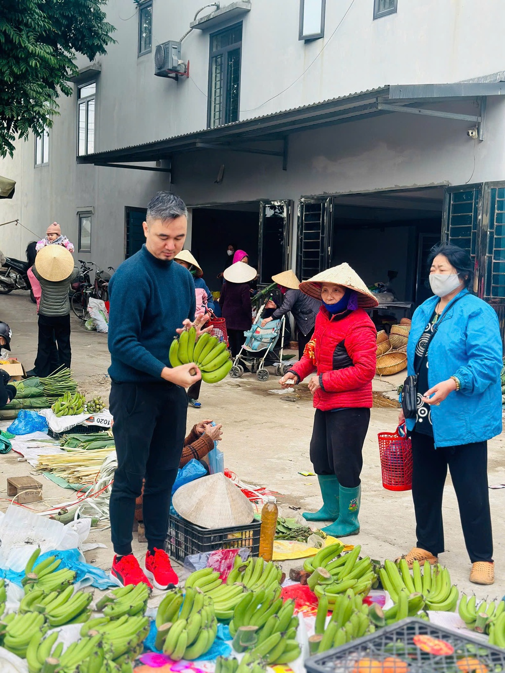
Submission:
M 174 661 L 201 657 L 217 635 L 212 599 L 191 586 L 181 596 L 178 589 L 167 592 L 156 614 L 156 649 Z

